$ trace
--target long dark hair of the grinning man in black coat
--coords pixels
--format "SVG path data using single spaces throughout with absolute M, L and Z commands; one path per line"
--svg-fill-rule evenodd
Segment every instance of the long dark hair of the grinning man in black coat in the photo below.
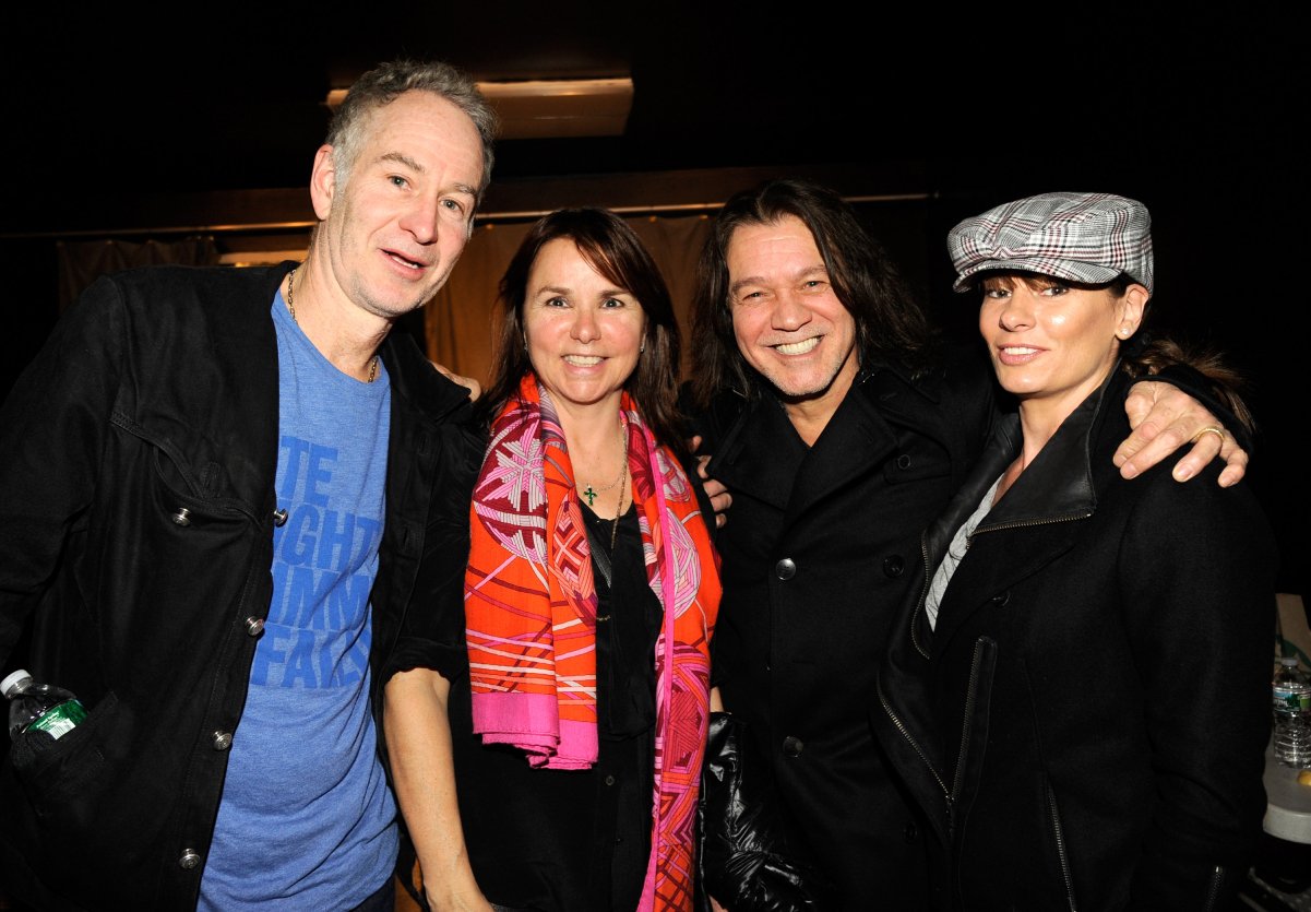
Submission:
M 753 398 L 768 388 L 733 335 L 728 251 L 739 227 L 775 224 L 788 215 L 810 230 L 838 299 L 855 318 L 861 366 L 895 363 L 916 371 L 928 361 L 933 333 L 924 310 L 855 210 L 819 184 L 772 180 L 729 198 L 701 249 L 692 299 L 692 337 L 697 340 L 692 391 L 701 405 L 725 388 Z

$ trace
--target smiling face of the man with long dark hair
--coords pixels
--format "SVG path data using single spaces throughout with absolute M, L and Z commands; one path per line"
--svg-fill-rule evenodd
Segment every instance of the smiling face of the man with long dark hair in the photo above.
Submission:
M 791 409 L 836 409 L 856 377 L 856 320 L 838 299 L 814 236 L 794 215 L 745 224 L 728 245 L 738 350 Z

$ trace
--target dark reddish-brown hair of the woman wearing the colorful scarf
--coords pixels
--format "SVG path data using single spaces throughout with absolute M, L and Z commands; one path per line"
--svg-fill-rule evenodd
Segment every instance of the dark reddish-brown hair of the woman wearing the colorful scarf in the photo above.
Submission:
M 635 298 L 646 314 L 642 341 L 646 350 L 624 382 L 636 400 L 642 421 L 656 440 L 675 453 L 684 453 L 684 421 L 678 411 L 679 333 L 669 287 L 646 245 L 624 219 L 591 206 L 560 209 L 539 219 L 519 244 L 501 277 L 501 312 L 496 332 L 494 374 L 479 400 L 479 420 L 489 425 L 511 396 L 519 381 L 532 370 L 524 350 L 523 306 L 528 272 L 541 248 L 553 240 L 572 240 L 598 273 Z

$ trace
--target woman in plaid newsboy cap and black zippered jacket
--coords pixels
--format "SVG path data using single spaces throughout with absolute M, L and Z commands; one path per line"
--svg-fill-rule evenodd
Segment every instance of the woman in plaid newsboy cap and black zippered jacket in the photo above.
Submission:
M 1227 908 L 1265 810 L 1276 551 L 1245 486 L 1112 467 L 1112 405 L 1162 354 L 1139 336 L 1148 213 L 1050 193 L 948 245 L 1019 411 L 924 533 L 878 681 L 884 741 L 937 824 L 939 899 Z

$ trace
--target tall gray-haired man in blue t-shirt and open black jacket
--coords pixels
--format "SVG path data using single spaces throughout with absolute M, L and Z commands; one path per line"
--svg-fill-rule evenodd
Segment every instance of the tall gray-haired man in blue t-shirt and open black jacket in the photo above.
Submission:
M 374 682 L 454 591 L 468 391 L 396 320 L 442 287 L 496 117 L 442 63 L 351 88 L 303 264 L 101 278 L 0 412 L 0 671 L 89 716 L 0 765 L 38 908 L 391 909 Z M 451 579 L 456 585 L 446 585 Z

